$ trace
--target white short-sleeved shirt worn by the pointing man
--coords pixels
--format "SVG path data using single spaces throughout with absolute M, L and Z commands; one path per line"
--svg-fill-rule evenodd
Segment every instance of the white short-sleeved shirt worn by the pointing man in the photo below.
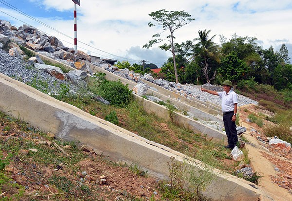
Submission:
M 219 97 L 221 97 L 221 107 L 222 112 L 230 112 L 234 110 L 234 104 L 237 102 L 237 94 L 230 90 L 227 94 L 225 91 L 219 91 L 217 92 Z

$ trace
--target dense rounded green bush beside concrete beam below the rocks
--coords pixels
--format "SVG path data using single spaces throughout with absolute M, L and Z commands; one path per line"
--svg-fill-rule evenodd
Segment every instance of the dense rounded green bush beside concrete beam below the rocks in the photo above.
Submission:
M 131 101 L 132 91 L 128 84 L 123 85 L 118 81 L 103 81 L 98 88 L 98 95 L 110 102 L 111 105 L 125 107 Z

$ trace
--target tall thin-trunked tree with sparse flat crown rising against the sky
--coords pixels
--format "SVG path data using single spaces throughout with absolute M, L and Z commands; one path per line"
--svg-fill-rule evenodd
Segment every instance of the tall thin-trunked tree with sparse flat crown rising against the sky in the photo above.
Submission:
M 170 35 L 166 36 L 165 38 L 160 38 L 160 34 L 154 34 L 152 38 L 155 38 L 154 40 L 150 40 L 147 44 L 143 46 L 143 48 L 150 48 L 152 45 L 156 43 L 160 43 L 163 41 L 166 41 L 167 43 L 164 43 L 163 45 L 159 46 L 160 49 L 163 49 L 165 51 L 169 50 L 172 53 L 173 57 L 173 65 L 174 65 L 174 73 L 175 73 L 175 81 L 176 83 L 179 82 L 178 80 L 178 73 L 177 73 L 177 66 L 176 66 L 176 52 L 175 52 L 175 43 L 174 43 L 174 32 L 183 27 L 184 25 L 190 23 L 191 21 L 195 20 L 194 18 L 190 18 L 191 15 L 188 14 L 185 11 L 166 11 L 164 9 L 155 11 L 149 14 L 149 16 L 152 17 L 153 20 L 155 20 L 154 23 L 149 22 L 149 27 L 153 26 L 162 26 L 163 32 L 169 31 Z

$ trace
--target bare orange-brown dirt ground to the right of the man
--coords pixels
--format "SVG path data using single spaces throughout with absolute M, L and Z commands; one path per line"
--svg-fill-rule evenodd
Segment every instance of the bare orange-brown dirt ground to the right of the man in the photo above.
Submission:
M 241 125 L 247 128 L 247 132 L 243 136 L 250 141 L 245 147 L 249 151 L 251 165 L 254 171 L 262 176 L 259 179 L 259 186 L 270 194 L 270 198 L 275 201 L 291 201 L 292 150 L 287 152 L 269 145 L 269 140 L 263 133 L 263 128 L 272 125 L 272 122 L 263 120 L 263 127 L 259 127 L 256 123 L 246 121 L 249 114 L 263 114 L 266 116 L 274 114 L 255 105 L 239 108 L 239 114 Z

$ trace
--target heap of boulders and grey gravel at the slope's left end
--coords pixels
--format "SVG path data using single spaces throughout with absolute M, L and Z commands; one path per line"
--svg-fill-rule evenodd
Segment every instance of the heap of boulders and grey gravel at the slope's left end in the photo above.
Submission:
M 21 50 L 20 45 L 33 49 L 34 51 L 44 51 L 50 54 L 50 57 L 54 59 L 56 59 L 57 56 L 57 58 L 63 62 L 73 63 L 76 70 L 64 73 L 58 67 L 46 65 L 38 55 L 29 58 L 25 63 L 24 60 L 22 60 L 25 53 Z M 9 57 L 2 48 L 8 49 L 12 57 Z M 34 27 L 24 25 L 17 29 L 11 26 L 9 22 L 0 20 L 0 72 L 24 83 L 36 82 L 38 79 L 45 80 L 47 85 L 50 86 L 48 87 L 49 91 L 43 88 L 41 84 L 37 87 L 41 91 L 46 90 L 50 95 L 57 95 L 62 88 L 61 84 L 68 85 L 70 92 L 73 94 L 77 93 L 80 88 L 87 87 L 85 80 L 88 74 L 84 70 L 89 69 L 89 67 L 87 68 L 85 62 L 76 60 L 81 59 L 90 62 L 90 57 L 82 51 L 76 53 L 73 51 L 73 48 L 64 47 L 62 42 L 56 37 L 47 36 Z M 81 70 L 78 70 L 78 68 Z M 93 99 L 105 104 L 110 104 L 102 97 L 96 96 L 90 92 L 88 93 Z

